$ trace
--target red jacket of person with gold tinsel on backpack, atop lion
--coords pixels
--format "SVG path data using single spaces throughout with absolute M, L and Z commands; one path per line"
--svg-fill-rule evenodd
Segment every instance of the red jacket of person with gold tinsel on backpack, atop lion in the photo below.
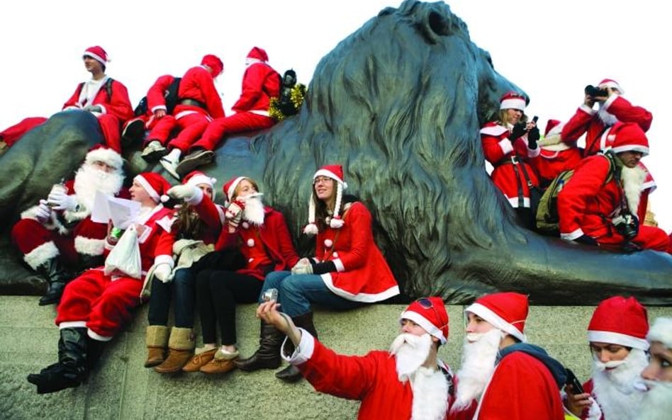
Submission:
M 271 98 L 280 96 L 280 74 L 264 62 L 252 62 L 242 76 L 240 98 L 231 109 L 269 115 Z

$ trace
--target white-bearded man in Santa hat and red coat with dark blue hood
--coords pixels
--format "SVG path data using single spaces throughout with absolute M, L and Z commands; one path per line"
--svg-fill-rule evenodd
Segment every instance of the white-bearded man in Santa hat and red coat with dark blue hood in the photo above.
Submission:
M 525 336 L 527 296 L 493 293 L 464 310 L 462 364 L 450 419 L 562 420 L 566 370 Z

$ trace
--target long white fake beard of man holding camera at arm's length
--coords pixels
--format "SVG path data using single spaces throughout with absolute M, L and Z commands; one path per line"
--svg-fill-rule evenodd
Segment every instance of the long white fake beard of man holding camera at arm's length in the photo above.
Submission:
M 396 358 L 397 377 L 413 387 L 411 420 L 443 420 L 448 410 L 449 384 L 437 367 L 422 366 L 432 350 L 432 336 L 399 334 L 390 353 Z

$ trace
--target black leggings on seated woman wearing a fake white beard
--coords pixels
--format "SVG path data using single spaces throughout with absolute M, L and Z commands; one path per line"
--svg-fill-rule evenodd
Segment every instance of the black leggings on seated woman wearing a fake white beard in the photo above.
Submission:
M 235 305 L 254 303 L 264 282 L 248 274 L 233 271 L 203 270 L 196 277 L 196 305 L 201 315 L 203 343 L 217 342 L 219 322 L 222 344 L 236 341 Z

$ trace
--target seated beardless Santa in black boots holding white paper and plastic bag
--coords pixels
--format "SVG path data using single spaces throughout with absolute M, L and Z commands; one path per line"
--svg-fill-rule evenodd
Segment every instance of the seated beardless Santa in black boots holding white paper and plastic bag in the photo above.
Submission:
M 152 265 L 168 263 L 172 267 L 172 254 L 159 254 L 165 249 L 162 242 L 172 242 L 170 226 L 172 210 L 164 208 L 161 197 L 170 184 L 159 174 L 146 172 L 133 178 L 130 199 L 140 203 L 135 230 L 141 259 L 141 276 Z M 118 241 L 116 228 L 109 226 L 106 250 Z M 28 375 L 28 382 L 37 385 L 38 394 L 57 392 L 77 387 L 91 367 L 98 361 L 103 345 L 133 316 L 133 308 L 140 305 L 142 280 L 113 271 L 106 274 L 103 267 L 84 271 L 65 286 L 57 307 L 55 324 L 60 331 L 58 361 L 40 373 Z

